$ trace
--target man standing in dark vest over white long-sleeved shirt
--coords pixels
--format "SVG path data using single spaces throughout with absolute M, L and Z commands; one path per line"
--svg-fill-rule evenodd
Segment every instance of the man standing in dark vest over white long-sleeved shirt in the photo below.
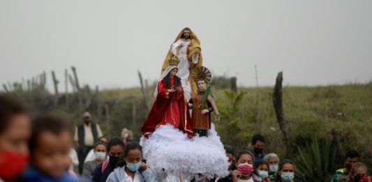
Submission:
M 91 114 L 84 112 L 82 114 L 83 123 L 75 128 L 74 141 L 77 146 L 77 157 L 79 158 L 79 173 L 82 174 L 84 159 L 98 137 L 102 137 L 102 131 L 98 124 L 91 121 Z

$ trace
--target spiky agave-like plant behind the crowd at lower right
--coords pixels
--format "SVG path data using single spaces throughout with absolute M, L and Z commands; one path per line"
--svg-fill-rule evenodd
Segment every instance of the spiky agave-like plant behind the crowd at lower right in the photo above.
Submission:
M 299 179 L 312 182 L 330 181 L 335 169 L 336 151 L 332 149 L 329 140 L 318 142 L 314 137 L 312 142 L 297 146 L 297 151 L 299 156 L 295 160 L 295 174 Z

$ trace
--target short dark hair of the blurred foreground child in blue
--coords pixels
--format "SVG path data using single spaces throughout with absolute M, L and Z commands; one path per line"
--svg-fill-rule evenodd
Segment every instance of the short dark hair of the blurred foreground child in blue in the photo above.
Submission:
M 31 137 L 29 149 L 33 151 L 38 142 L 38 136 L 42 132 L 52 132 L 54 135 L 61 135 L 62 132 L 70 132 L 73 135 L 73 128 L 66 120 L 53 114 L 40 114 L 31 122 Z

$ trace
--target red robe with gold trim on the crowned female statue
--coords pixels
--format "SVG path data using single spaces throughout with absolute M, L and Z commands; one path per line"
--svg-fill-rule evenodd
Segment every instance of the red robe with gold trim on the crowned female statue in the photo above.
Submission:
M 174 86 L 174 78 L 170 78 L 170 84 Z M 191 116 L 188 112 L 188 103 L 185 100 L 184 90 L 170 92 L 165 86 L 163 79 L 158 82 L 158 96 L 152 105 L 149 116 L 141 128 L 143 135 L 149 135 L 160 126 L 167 124 L 193 136 Z

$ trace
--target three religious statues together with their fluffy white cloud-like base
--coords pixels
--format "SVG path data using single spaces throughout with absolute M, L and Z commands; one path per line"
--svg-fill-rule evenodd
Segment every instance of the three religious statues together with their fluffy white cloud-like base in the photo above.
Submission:
M 202 67 L 200 41 L 191 29 L 179 33 L 161 71 L 154 92 L 156 100 L 141 128 L 140 139 L 143 158 L 151 166 L 152 174 L 160 181 L 228 176 L 228 158 L 211 123 L 210 112 L 218 115 L 209 96 L 210 86 L 206 86 L 211 73 Z M 192 104 L 188 103 L 191 94 Z

